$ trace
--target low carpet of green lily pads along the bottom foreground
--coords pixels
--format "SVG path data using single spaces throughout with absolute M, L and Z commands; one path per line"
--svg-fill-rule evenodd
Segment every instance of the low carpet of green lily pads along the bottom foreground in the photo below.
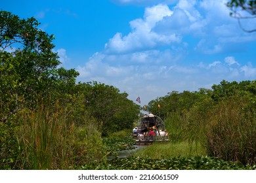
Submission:
M 130 156 L 107 161 L 95 169 L 114 170 L 255 170 L 256 165 L 242 165 L 209 156 L 177 156 L 168 159 L 151 159 Z

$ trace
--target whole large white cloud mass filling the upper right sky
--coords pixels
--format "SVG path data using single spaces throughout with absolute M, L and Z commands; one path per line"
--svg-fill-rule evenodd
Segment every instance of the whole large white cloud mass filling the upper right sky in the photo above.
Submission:
M 138 2 L 119 1 L 119 3 Z M 127 35 L 116 33 L 105 44 L 105 52 L 125 54 L 175 44 L 182 46 L 188 44 L 186 42 L 188 35 L 198 40 L 194 45 L 196 52 L 203 54 L 244 52 L 246 42 L 255 41 L 256 37 L 248 36 L 240 29 L 238 22 L 230 18 L 230 10 L 226 7 L 226 2 L 226 0 L 180 0 L 172 6 L 158 4 L 146 7 L 143 18 L 130 22 L 131 32 Z M 235 42 L 240 42 L 240 46 L 234 44 Z

